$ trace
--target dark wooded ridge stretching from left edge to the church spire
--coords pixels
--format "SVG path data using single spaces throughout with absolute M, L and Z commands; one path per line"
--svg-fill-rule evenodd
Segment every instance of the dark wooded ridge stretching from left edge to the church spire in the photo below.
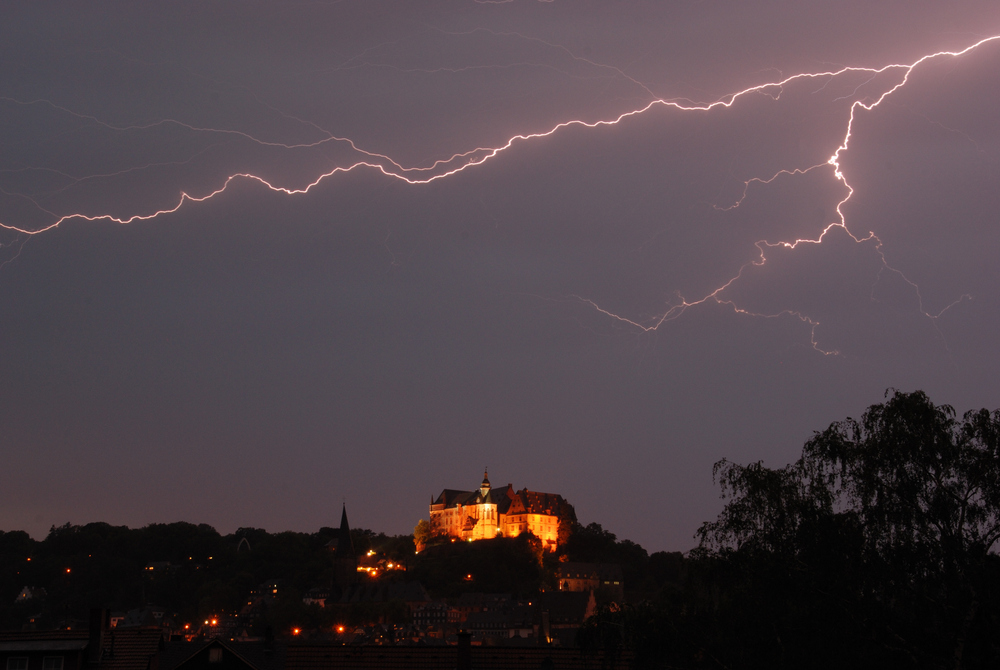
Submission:
M 336 533 L 241 528 L 222 535 L 191 523 L 66 524 L 42 541 L 23 531 L 0 532 L 0 628 L 20 628 L 29 618 L 39 628 L 72 625 L 97 606 L 156 605 L 172 619 L 199 621 L 238 612 L 265 582 L 280 582 L 277 608 L 294 611 L 307 590 L 333 581 L 328 543 Z M 410 536 L 362 529 L 353 530 L 352 539 L 359 553 L 375 549 L 401 562 L 413 555 Z M 26 586 L 43 588 L 44 597 L 16 602 Z

